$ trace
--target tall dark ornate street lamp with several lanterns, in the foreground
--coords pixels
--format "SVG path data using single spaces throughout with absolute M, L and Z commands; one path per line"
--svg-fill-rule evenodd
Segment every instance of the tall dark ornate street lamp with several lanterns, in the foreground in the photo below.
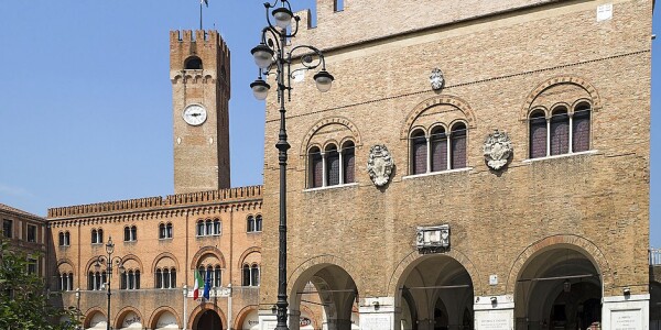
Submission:
M 280 4 L 279 8 L 278 4 Z M 328 91 L 333 84 L 333 76 L 326 72 L 326 62 L 322 52 L 313 46 L 300 45 L 286 48 L 289 38 L 296 36 L 299 32 L 300 16 L 292 13 L 288 0 L 275 0 L 273 4 L 264 3 L 267 10 L 267 23 L 261 32 L 261 43 L 252 48 L 254 63 L 259 67 L 259 77 L 250 88 L 258 100 L 264 100 L 271 86 L 262 79 L 262 75 L 275 75 L 278 82 L 278 101 L 280 102 L 280 132 L 278 134 L 278 161 L 280 164 L 280 226 L 279 226 L 279 254 L 278 254 L 278 324 L 277 330 L 286 330 L 286 151 L 290 144 L 286 142 L 284 92 L 288 92 L 288 101 L 291 101 L 291 79 L 299 72 L 312 70 L 322 67 L 313 78 L 317 89 L 322 92 Z M 272 16 L 272 18 L 271 18 Z M 292 20 L 295 25 L 292 26 Z M 294 57 L 294 52 L 301 52 Z M 293 61 L 300 59 L 301 67 L 292 72 Z

